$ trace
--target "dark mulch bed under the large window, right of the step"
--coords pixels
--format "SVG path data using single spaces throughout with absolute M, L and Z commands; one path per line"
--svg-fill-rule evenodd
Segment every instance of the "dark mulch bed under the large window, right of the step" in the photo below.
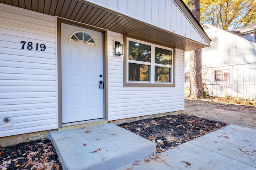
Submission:
M 118 125 L 157 144 L 157 153 L 220 129 L 228 123 L 186 114 L 167 115 Z

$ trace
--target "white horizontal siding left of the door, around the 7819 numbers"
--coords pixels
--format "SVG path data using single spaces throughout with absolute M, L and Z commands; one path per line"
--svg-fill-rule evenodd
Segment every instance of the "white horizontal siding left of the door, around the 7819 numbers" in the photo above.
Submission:
M 0 4 L 0 137 L 58 127 L 55 48 L 54 17 Z

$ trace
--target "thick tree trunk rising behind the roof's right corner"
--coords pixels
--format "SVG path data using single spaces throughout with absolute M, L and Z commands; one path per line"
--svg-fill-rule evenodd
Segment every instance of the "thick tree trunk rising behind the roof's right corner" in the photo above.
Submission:
M 196 20 L 200 22 L 200 0 L 189 0 L 188 6 Z M 190 95 L 191 99 L 197 99 L 204 96 L 202 82 L 202 50 L 196 49 L 190 51 Z

